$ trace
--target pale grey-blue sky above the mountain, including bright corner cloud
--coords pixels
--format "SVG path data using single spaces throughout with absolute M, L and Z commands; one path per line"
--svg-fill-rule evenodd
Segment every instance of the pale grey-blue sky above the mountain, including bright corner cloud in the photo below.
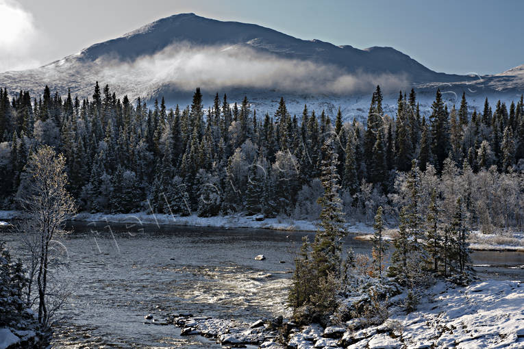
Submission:
M 444 73 L 493 74 L 524 64 L 518 0 L 0 0 L 0 72 L 60 60 L 184 12 L 358 49 L 394 47 Z

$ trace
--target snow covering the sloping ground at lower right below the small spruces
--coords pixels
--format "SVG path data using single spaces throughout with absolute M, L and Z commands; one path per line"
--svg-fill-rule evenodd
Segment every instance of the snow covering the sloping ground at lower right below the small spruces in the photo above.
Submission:
M 290 335 L 291 348 L 524 348 L 524 286 L 487 280 L 469 287 L 440 282 L 407 314 L 390 307 L 384 324 L 327 339 L 319 325 Z M 328 331 L 329 332 L 329 331 Z

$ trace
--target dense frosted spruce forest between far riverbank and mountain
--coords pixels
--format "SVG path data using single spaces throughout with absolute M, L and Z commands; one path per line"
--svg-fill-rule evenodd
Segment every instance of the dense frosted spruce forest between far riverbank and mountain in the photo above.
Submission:
M 291 116 L 284 99 L 274 115 L 260 116 L 246 97 L 231 104 L 218 94 L 205 109 L 199 89 L 191 105 L 175 109 L 164 99 L 149 107 L 118 99 L 98 83 L 92 98 L 82 100 L 51 94 L 47 86 L 38 99 L 25 91 L 10 99 L 0 89 L 1 207 L 16 208 L 28 155 L 48 144 L 66 156 L 68 190 L 82 210 L 316 218 L 321 145 L 331 137 L 345 212 L 371 220 L 379 205 L 397 210 L 399 173 L 414 158 L 436 177 L 454 168 L 456 175 L 489 174 L 495 182 L 519 178 L 523 98 L 509 111 L 500 101 L 493 111 L 486 99 L 482 113 L 470 113 L 464 95 L 449 110 L 437 91 L 431 114 L 423 116 L 412 90 L 399 94 L 397 113 L 388 116 L 377 86 L 362 125 L 342 122 L 340 110 L 317 115 L 304 106 L 301 116 Z M 521 188 L 513 194 L 521 201 Z M 468 209 L 479 216 L 475 205 Z M 510 216 L 504 224 L 522 224 L 518 211 Z

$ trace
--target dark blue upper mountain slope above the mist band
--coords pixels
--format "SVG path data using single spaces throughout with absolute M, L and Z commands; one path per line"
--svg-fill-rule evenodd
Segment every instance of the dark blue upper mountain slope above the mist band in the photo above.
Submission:
M 320 40 L 301 40 L 260 25 L 223 22 L 195 14 L 177 14 L 136 29 L 121 38 L 94 44 L 80 54 L 95 61 L 104 55 L 135 60 L 165 49 L 173 42 L 199 45 L 242 44 L 290 59 L 335 64 L 348 73 L 406 73 L 411 81 L 457 81 L 458 75 L 439 74 L 390 47 L 355 49 Z M 463 78 L 463 77 L 462 77 Z

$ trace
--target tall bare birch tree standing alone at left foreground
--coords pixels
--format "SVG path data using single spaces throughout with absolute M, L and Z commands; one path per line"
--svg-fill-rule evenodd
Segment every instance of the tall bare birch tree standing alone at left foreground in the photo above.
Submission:
M 27 220 L 20 229 L 28 235 L 27 250 L 33 255 L 31 258 L 38 254 L 36 260 L 28 263 L 33 268 L 38 287 L 38 322 L 45 327 L 50 326 L 51 317 L 63 304 L 66 294 L 63 287 L 53 285 L 52 292 L 48 287 L 51 271 L 60 263 L 53 237 L 65 232 L 66 219 L 76 211 L 75 202 L 66 190 L 65 166 L 62 154 L 57 155 L 50 146 L 40 146 L 27 161 L 27 182 L 21 197 Z M 30 289 L 27 301 L 32 302 Z

